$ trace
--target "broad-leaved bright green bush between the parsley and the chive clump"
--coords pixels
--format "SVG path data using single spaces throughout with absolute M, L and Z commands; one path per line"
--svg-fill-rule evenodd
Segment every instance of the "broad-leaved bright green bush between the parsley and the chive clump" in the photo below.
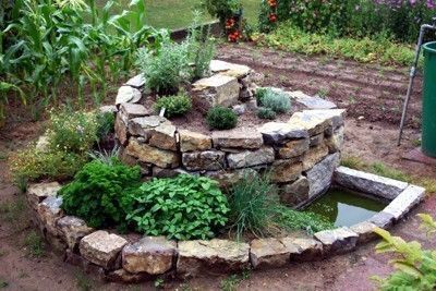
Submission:
M 226 225 L 229 211 L 216 181 L 189 174 L 154 179 L 134 192 L 132 198 L 128 220 L 136 230 L 169 239 L 213 238 Z

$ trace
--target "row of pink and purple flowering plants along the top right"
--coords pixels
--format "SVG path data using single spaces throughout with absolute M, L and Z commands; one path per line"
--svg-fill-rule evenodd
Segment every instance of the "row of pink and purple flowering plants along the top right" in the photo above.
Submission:
M 362 37 L 386 32 L 414 41 L 435 9 L 435 0 L 263 0 L 259 28 L 268 32 L 278 21 L 290 21 L 310 33 Z

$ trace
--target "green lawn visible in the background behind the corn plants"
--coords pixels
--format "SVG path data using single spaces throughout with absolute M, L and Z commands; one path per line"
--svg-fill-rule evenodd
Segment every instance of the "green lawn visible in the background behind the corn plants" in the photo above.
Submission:
M 105 3 L 105 0 L 97 0 Z M 125 5 L 130 0 L 120 0 Z M 251 24 L 257 22 L 257 10 L 261 0 L 241 0 L 244 13 Z M 192 22 L 192 12 L 198 10 L 199 0 L 145 0 L 147 22 L 156 28 L 182 28 Z M 205 13 L 205 21 L 211 17 Z

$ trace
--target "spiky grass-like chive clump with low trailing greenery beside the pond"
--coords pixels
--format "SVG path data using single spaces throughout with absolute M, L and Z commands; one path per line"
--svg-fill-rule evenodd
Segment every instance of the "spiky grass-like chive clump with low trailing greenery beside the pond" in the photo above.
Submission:
M 296 211 L 280 204 L 277 186 L 268 175 L 246 175 L 233 185 L 229 196 L 230 228 L 238 238 L 244 232 L 257 237 L 279 230 L 319 231 L 332 228 L 322 217 Z

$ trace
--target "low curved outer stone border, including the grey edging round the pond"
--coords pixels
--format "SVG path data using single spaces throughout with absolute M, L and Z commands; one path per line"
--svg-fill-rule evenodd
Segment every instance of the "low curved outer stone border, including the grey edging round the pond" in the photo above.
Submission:
M 229 274 L 244 269 L 278 268 L 292 262 L 319 260 L 353 251 L 376 238 L 376 227 L 387 229 L 425 196 L 423 187 L 339 167 L 332 183 L 392 201 L 371 219 L 349 228 L 320 231 L 313 235 L 254 239 L 250 243 L 213 239 L 168 241 L 164 237 L 117 234 L 94 230 L 77 217 L 65 216 L 57 197 L 59 183 L 32 184 L 27 202 L 33 220 L 46 240 L 64 255 L 64 260 L 109 281 L 140 282 L 157 276 L 186 278 L 203 274 Z M 386 193 L 385 193 L 386 194 Z

